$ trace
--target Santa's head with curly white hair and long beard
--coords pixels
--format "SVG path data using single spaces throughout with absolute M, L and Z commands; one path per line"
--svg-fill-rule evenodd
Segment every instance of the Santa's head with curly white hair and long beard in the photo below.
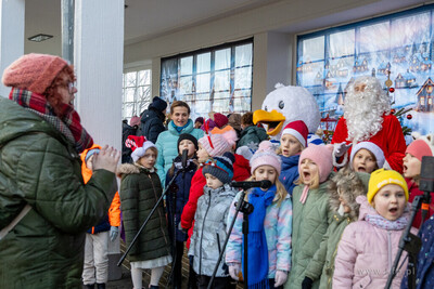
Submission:
M 344 117 L 348 140 L 369 140 L 382 129 L 383 114 L 391 113 L 391 102 L 380 81 L 371 76 L 357 78 L 345 96 Z

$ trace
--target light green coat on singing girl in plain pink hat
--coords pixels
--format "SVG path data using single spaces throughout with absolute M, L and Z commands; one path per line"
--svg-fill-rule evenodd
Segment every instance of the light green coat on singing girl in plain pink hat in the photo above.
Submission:
M 294 187 L 292 268 L 284 286 L 285 289 L 302 288 L 306 267 L 308 267 L 310 260 L 319 249 L 322 237 L 333 216 L 329 206 L 329 194 L 327 193 L 328 183 L 329 181 L 326 181 L 318 188 L 309 189 L 305 203 L 299 201 L 304 185 Z M 314 283 L 312 288 L 318 288 L 318 286 L 319 280 Z

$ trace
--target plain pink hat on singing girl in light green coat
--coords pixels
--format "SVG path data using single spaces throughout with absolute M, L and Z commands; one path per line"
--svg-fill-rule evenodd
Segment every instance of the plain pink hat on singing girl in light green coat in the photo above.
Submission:
M 332 153 L 333 145 L 309 144 L 305 149 L 303 149 L 302 155 L 299 156 L 298 172 L 302 161 L 308 158 L 318 166 L 319 182 L 324 182 L 333 169 Z

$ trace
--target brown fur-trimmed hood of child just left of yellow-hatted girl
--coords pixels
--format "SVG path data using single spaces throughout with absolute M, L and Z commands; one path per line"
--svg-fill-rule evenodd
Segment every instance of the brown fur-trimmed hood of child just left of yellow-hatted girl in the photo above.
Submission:
M 370 174 L 355 172 L 349 168 L 340 170 L 329 182 L 329 203 L 330 208 L 337 212 L 341 201 L 337 187 L 340 188 L 341 197 L 352 209 L 349 216 L 355 221 L 359 214 L 360 205 L 356 201 L 357 196 L 366 196 L 368 192 Z

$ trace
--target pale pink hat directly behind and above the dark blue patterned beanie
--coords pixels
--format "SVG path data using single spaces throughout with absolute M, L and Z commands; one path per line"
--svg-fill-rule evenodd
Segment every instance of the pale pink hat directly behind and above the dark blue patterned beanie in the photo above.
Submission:
M 233 129 L 226 130 L 219 134 L 206 134 L 199 139 L 199 143 L 205 148 L 209 156 L 222 156 L 224 153 L 232 149 L 238 137 Z

